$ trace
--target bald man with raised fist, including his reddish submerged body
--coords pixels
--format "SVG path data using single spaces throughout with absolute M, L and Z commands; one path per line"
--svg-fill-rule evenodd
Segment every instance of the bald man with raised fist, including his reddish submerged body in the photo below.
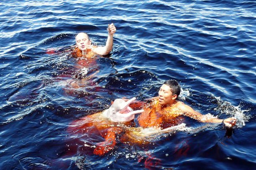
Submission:
M 92 78 L 98 72 L 98 65 L 96 56 L 97 55 L 108 55 L 113 47 L 113 34 L 115 33 L 116 28 L 112 23 L 108 26 L 108 39 L 106 41 L 105 46 L 95 46 L 92 45 L 90 37 L 87 33 L 80 32 L 76 35 L 75 41 L 75 49 L 71 51 L 71 56 L 76 58 L 76 62 L 74 65 L 75 70 L 72 70 L 71 75 L 67 75 L 67 72 L 70 71 L 63 70 L 64 74 L 61 74 L 61 77 L 72 77 L 74 81 L 70 82 L 67 93 L 74 93 L 74 89 L 84 86 L 94 86 L 93 82 L 90 82 L 90 78 Z M 70 51 L 68 51 L 70 52 Z M 49 48 L 46 50 L 47 54 L 56 54 L 59 53 L 53 48 Z M 93 74 L 92 74 L 93 73 Z M 78 80 L 77 80 L 78 79 Z M 82 80 L 82 81 L 79 81 Z M 88 83 L 89 82 L 89 83 Z M 85 85 L 84 85 L 85 83 Z M 91 85 L 92 84 L 92 85 Z

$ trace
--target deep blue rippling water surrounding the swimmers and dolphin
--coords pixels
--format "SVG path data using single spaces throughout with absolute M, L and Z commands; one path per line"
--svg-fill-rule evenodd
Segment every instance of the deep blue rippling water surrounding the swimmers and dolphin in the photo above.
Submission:
M 256 169 L 255 1 L 2 0 L 0 23 L 0 169 Z M 111 54 L 97 56 L 90 82 L 76 78 L 75 35 L 105 45 L 110 23 L 117 28 Z M 82 151 L 66 132 L 116 98 L 156 96 L 168 79 L 182 85 L 182 102 L 236 116 L 237 125 L 226 134 L 187 120 L 191 131 L 143 147 L 118 143 L 104 156 Z M 75 155 L 65 155 L 69 145 L 77 145 Z M 161 164 L 145 167 L 146 153 Z

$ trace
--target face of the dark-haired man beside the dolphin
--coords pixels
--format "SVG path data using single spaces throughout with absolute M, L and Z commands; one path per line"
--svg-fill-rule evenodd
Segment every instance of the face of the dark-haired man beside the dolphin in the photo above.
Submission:
M 176 99 L 176 95 L 172 95 L 171 87 L 163 84 L 158 92 L 160 105 L 172 105 Z

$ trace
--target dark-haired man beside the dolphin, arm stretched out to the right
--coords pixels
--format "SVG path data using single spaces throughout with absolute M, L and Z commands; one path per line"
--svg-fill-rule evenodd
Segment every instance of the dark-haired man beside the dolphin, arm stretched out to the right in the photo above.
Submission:
M 212 115 L 202 115 L 192 107 L 177 101 L 180 85 L 175 80 L 166 80 L 160 87 L 159 96 L 154 97 L 150 104 L 143 105 L 144 112 L 138 116 L 141 127 L 168 128 L 182 122 L 180 115 L 191 117 L 198 122 L 224 123 L 227 127 L 236 125 L 236 118 L 218 119 Z

